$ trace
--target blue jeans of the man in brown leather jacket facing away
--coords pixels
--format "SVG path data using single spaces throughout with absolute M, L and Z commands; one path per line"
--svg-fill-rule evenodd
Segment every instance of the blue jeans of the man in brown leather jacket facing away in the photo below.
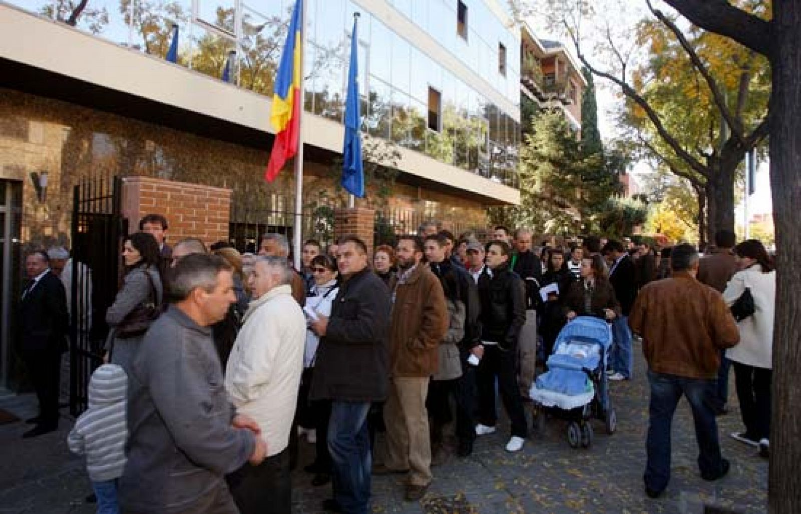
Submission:
M 714 419 L 715 379 L 689 379 L 648 371 L 650 382 L 650 424 L 646 450 L 646 487 L 662 491 L 670 481 L 670 424 L 678 400 L 687 397 L 695 422 L 698 440 L 698 468 L 702 476 L 717 475 L 723 467 L 718 440 L 718 424 Z

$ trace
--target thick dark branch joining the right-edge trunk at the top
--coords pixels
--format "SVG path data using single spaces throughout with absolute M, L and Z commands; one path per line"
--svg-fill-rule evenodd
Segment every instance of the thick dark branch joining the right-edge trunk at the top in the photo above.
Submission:
M 665 0 L 685 18 L 770 58 L 773 53 L 771 23 L 732 6 L 727 0 Z

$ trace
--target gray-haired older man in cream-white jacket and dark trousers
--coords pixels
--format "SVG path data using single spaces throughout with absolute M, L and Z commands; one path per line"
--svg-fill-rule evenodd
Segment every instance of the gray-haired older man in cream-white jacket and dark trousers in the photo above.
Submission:
M 243 514 L 291 512 L 289 433 L 303 371 L 306 319 L 292 298 L 287 259 L 259 257 L 249 278 L 254 299 L 244 315 L 225 372 L 225 389 L 238 414 L 259 424 L 267 459 L 228 476 Z

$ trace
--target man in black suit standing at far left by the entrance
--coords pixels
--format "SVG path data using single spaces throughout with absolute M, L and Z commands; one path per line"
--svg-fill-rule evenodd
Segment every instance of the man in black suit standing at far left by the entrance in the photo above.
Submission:
M 66 351 L 69 316 L 61 280 L 50 272 L 45 251 L 25 259 L 28 283 L 20 303 L 20 349 L 39 400 L 39 415 L 28 420 L 36 426 L 22 435 L 41 436 L 58 428 L 58 375 Z

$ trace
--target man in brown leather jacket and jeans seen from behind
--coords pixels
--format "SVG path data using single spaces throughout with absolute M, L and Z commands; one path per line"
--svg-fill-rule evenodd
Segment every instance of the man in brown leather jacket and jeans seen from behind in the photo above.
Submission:
M 642 335 L 648 361 L 650 426 L 643 479 L 651 498 L 662 494 L 670 480 L 670 424 L 682 395 L 693 412 L 701 477 L 718 480 L 729 471 L 729 461 L 720 455 L 712 402 L 719 350 L 738 343 L 739 331 L 723 295 L 695 279 L 694 247 L 674 247 L 671 266 L 670 279 L 640 290 L 629 316 L 631 330 Z

